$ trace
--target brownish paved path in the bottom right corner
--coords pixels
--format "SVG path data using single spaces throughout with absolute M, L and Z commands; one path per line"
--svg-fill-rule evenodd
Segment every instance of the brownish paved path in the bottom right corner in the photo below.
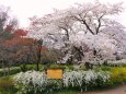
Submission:
M 102 91 L 95 91 L 95 92 L 87 92 L 82 94 L 126 94 L 126 85 L 110 89 L 110 90 L 102 90 Z

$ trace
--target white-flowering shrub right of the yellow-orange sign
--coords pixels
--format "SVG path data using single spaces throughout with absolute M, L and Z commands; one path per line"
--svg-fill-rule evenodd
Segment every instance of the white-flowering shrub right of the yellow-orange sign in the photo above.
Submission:
M 64 73 L 64 86 L 65 87 L 98 87 L 104 86 L 110 81 L 110 72 L 107 71 L 71 71 Z

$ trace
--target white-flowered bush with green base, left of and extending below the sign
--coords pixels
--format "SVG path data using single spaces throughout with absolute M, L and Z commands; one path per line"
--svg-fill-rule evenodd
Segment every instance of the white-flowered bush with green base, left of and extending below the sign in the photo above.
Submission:
M 41 94 L 49 93 L 58 89 L 58 82 L 48 81 L 44 72 L 27 71 L 14 77 L 15 86 L 19 94 Z

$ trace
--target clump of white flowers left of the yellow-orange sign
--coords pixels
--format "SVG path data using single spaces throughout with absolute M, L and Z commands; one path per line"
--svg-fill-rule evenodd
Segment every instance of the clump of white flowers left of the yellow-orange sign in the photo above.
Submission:
M 26 72 L 20 72 L 14 78 L 15 86 L 19 87 L 20 84 L 22 84 L 22 91 L 31 91 L 31 87 L 34 87 L 34 93 L 36 94 L 36 91 L 44 90 L 47 83 L 47 77 L 44 72 L 38 71 L 26 71 Z M 27 87 L 27 89 L 26 89 Z

